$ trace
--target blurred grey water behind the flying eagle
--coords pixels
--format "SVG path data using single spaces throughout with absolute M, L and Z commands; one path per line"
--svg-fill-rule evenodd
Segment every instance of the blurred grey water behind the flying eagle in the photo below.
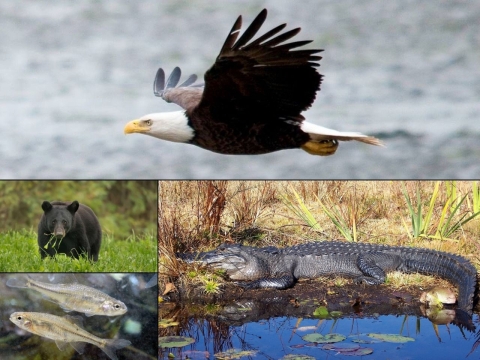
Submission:
M 262 9 L 323 48 L 314 123 L 380 137 L 332 157 L 224 156 L 143 135 L 178 110 L 158 67 L 200 78 L 239 14 Z M 367 0 L 0 3 L 0 178 L 478 178 L 480 2 Z

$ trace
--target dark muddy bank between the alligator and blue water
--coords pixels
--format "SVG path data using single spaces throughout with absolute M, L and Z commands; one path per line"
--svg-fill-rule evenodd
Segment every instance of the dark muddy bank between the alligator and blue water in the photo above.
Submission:
M 441 279 L 433 286 L 448 285 Z M 429 286 L 432 284 L 429 284 Z M 190 317 L 217 319 L 226 325 L 236 325 L 269 319 L 271 317 L 292 316 L 312 317 L 319 306 L 328 312 L 336 311 L 340 316 L 378 317 L 379 315 L 412 315 L 428 317 L 436 322 L 438 312 L 433 312 L 419 301 L 423 291 L 417 286 L 394 288 L 388 284 L 363 285 L 347 282 L 338 286 L 333 280 L 306 280 L 286 290 L 256 289 L 243 290 L 239 286 L 226 283 L 219 294 L 207 295 L 199 287 L 187 292 L 174 291 L 161 297 L 159 314 L 161 318 L 176 318 L 187 322 Z M 476 308 L 475 312 L 480 312 Z M 478 324 L 463 311 L 455 310 L 454 305 L 445 305 L 443 323 L 453 323 L 473 331 Z M 446 314 L 446 315 L 445 315 Z M 446 319 L 446 320 L 445 320 Z M 442 322 L 436 322 L 442 323 Z

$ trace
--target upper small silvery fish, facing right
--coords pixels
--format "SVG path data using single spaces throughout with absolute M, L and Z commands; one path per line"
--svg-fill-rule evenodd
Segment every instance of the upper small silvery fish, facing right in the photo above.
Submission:
M 86 316 L 118 316 L 127 312 L 127 306 L 120 300 L 78 283 L 51 284 L 22 276 L 8 279 L 7 286 L 36 290 L 66 312 L 77 311 Z

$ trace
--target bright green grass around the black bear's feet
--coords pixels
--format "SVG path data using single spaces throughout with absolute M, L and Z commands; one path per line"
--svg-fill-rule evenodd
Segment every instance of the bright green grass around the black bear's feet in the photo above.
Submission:
M 155 272 L 157 269 L 157 246 L 152 235 L 131 236 L 123 241 L 106 235 L 95 263 L 63 254 L 42 260 L 37 234 L 33 231 L 0 234 L 0 243 L 0 272 Z

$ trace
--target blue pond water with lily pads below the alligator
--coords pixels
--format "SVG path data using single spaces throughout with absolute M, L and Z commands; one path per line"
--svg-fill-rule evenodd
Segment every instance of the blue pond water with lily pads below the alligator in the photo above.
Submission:
M 218 356 L 218 353 L 236 349 L 238 352 L 236 355 L 230 354 L 230 359 L 236 358 L 234 356 L 242 359 L 282 359 L 289 354 L 308 355 L 314 359 L 343 359 L 358 354 L 353 350 L 358 347 L 371 352 L 365 355 L 366 359 L 480 357 L 478 329 L 469 331 L 455 324 L 455 321 L 445 324 L 451 318 L 441 320 L 440 316 L 432 321 L 418 306 L 369 305 L 358 311 L 353 310 L 350 304 L 329 304 L 329 310 L 335 308 L 339 312 L 330 311 L 328 318 L 321 319 L 312 315 L 310 306 L 304 308 L 299 305 L 295 308 L 292 304 L 280 301 L 259 311 L 257 305 L 252 302 L 227 306 L 209 304 L 203 307 L 165 304 L 163 310 L 161 306 L 163 319 L 173 317 L 180 325 L 161 328 L 160 336 L 181 335 L 191 337 L 195 342 L 182 348 L 160 348 L 159 358 L 167 360 L 171 354 L 175 359 L 214 359 L 217 358 L 215 354 Z M 262 314 L 264 311 L 267 314 Z M 288 315 L 270 316 L 282 311 Z M 444 310 L 443 315 L 454 313 L 454 310 Z M 473 323 L 478 328 L 478 314 L 473 316 Z M 394 337 L 394 340 L 405 342 L 390 342 L 391 339 L 379 341 L 367 336 L 372 333 L 401 335 L 401 338 Z M 325 344 L 304 340 L 303 337 L 308 334 L 343 335 L 345 339 L 333 345 L 348 348 L 349 351 L 328 350 Z

